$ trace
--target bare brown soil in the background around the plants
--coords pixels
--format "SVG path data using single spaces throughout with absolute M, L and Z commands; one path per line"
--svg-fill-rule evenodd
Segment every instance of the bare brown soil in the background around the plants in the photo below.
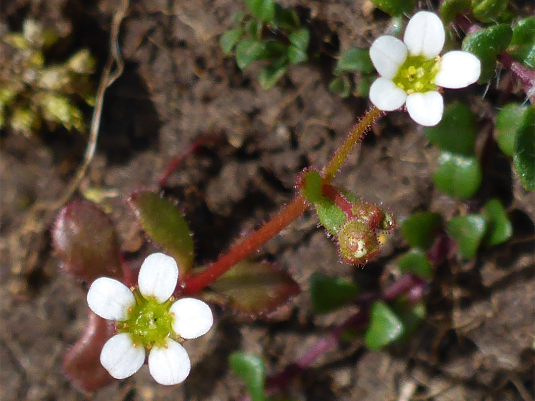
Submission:
M 20 30 L 32 16 L 70 31 L 74 40 L 67 48 L 89 47 L 102 68 L 117 3 L 95 3 L 3 2 L 2 32 Z M 351 45 L 368 47 L 388 22 L 386 14 L 370 12 L 361 0 L 282 4 L 297 6 L 317 43 L 334 54 Z M 119 38 L 125 71 L 106 92 L 97 153 L 79 192 L 97 189 L 105 195 L 101 206 L 132 258 L 146 253 L 148 245 L 125 199 L 136 189 L 157 190 L 166 164 L 198 138 L 216 137 L 220 144 L 187 157 L 165 193 L 184 209 L 201 264 L 288 203 L 297 174 L 309 165 L 322 166 L 369 106 L 365 99 L 343 100 L 328 91 L 333 66 L 328 57 L 292 66 L 279 84 L 263 90 L 256 80 L 259 65 L 241 72 L 218 46 L 218 35 L 242 9 L 242 2 L 230 0 L 129 5 Z M 503 99 L 494 87 L 487 96 L 484 90 L 446 93 L 446 101 L 460 98 L 486 118 Z M 523 94 L 508 96 L 522 101 Z M 36 215 L 30 210 L 37 203 L 52 205 L 63 194 L 86 140 L 62 130 L 29 139 L 2 134 L 3 400 L 241 399 L 246 390 L 227 364 L 232 351 L 261 354 L 268 374 L 275 374 L 351 313 L 312 314 L 308 283 L 313 272 L 353 278 L 363 289 L 375 290 L 396 274 L 392 260 L 407 250 L 396 233 L 377 261 L 364 268 L 340 264 L 315 216 L 305 213 L 259 253 L 287 269 L 301 286 L 299 296 L 270 319 L 256 321 L 214 307 L 215 328 L 188 347 L 193 369 L 182 385 L 157 385 L 143 367 L 127 380 L 85 394 L 62 369 L 66 350 L 85 327 L 85 288 L 59 268 L 51 252 L 49 229 L 57 210 Z M 407 344 L 370 352 L 361 341 L 340 343 L 289 384 L 289 399 L 409 399 L 404 394 L 412 400 L 533 399 L 533 194 L 519 184 L 511 160 L 491 151 L 482 189 L 464 204 L 433 188 L 438 151 L 406 113 L 381 119 L 350 156 L 336 183 L 367 201 L 382 202 L 398 220 L 418 210 L 450 217 L 495 195 L 506 204 L 514 236 L 470 263 L 439 269 L 425 322 Z

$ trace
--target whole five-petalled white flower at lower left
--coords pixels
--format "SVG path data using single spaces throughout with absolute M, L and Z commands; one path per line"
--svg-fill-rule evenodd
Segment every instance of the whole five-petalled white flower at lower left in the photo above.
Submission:
M 178 267 L 163 253 L 153 253 L 143 261 L 137 281 L 139 290 L 134 292 L 109 277 L 95 280 L 89 288 L 90 309 L 115 320 L 118 331 L 104 344 L 101 364 L 116 379 L 125 379 L 143 365 L 147 349 L 154 380 L 166 385 L 181 383 L 191 364 L 186 350 L 175 340 L 207 333 L 213 324 L 210 307 L 194 298 L 172 303 Z

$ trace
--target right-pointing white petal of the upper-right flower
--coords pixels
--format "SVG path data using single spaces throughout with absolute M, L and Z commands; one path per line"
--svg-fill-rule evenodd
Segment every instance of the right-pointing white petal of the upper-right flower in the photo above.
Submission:
M 443 88 L 464 88 L 476 82 L 481 74 L 481 61 L 468 51 L 450 51 L 440 60 L 435 85 Z

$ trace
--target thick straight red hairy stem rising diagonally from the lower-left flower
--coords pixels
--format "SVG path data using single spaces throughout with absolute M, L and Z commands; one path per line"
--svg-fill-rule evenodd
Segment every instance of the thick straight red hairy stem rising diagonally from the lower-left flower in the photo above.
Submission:
M 184 286 L 179 289 L 179 295 L 192 295 L 208 286 L 228 269 L 239 263 L 260 246 L 277 235 L 290 222 L 295 220 L 307 208 L 307 204 L 301 196 L 297 196 L 292 203 L 288 204 L 264 226 L 256 230 L 245 240 L 235 245 L 225 255 L 210 265 L 204 272 L 186 279 Z

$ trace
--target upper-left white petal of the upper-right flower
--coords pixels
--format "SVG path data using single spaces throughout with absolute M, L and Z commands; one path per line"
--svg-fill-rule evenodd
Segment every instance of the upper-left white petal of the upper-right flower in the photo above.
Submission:
M 379 75 L 394 78 L 407 59 L 407 46 L 394 36 L 379 36 L 370 47 L 370 58 Z

